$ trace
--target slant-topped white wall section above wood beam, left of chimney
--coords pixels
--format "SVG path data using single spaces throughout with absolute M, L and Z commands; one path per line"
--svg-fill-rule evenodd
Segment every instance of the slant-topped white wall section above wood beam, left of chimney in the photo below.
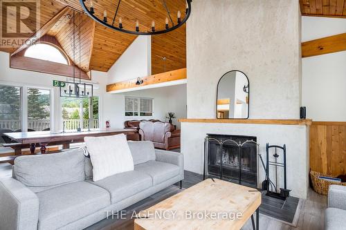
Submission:
M 108 84 L 151 75 L 150 36 L 138 36 L 108 71 Z

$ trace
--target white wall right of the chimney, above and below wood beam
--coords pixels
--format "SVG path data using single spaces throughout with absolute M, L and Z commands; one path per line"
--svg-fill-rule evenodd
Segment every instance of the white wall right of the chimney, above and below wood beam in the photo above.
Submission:
M 302 17 L 302 40 L 346 32 L 346 19 Z M 302 59 L 302 106 L 315 121 L 346 122 L 346 51 Z

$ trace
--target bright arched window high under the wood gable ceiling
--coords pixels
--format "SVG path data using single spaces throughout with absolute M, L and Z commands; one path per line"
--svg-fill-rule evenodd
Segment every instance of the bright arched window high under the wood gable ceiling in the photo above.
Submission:
M 49 44 L 39 43 L 30 46 L 24 56 L 69 65 L 69 61 L 64 53 Z

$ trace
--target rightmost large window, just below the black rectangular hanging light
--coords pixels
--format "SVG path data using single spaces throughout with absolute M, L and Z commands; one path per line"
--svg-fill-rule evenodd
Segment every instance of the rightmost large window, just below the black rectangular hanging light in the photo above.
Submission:
M 62 119 L 64 121 L 65 131 L 75 131 L 78 128 L 84 130 L 89 128 L 99 128 L 99 97 L 61 97 L 61 99 Z

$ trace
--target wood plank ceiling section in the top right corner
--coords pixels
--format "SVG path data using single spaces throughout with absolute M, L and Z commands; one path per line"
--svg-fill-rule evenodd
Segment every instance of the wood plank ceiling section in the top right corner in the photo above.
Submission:
M 345 17 L 345 0 L 300 0 L 300 10 L 305 16 Z

